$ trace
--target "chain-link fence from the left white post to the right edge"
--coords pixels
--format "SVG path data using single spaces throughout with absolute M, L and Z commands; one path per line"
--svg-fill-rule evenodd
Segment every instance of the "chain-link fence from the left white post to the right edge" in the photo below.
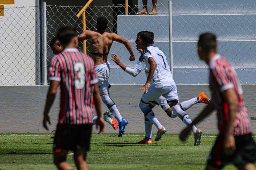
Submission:
M 48 32 L 48 41 L 60 25 L 74 25 L 78 27 L 79 32 L 82 32 L 81 18 L 75 17 L 80 9 L 79 7 L 48 6 L 49 21 L 54 23 L 51 25 L 48 21 L 50 32 Z M 129 15 L 124 15 L 124 6 L 89 7 L 86 10 L 87 29 L 96 31 L 96 19 L 104 15 L 109 20 L 107 32 L 115 32 L 126 38 L 135 53 L 134 41 L 137 33 L 143 30 L 153 31 L 154 45 L 158 46 L 170 61 L 168 4 L 157 5 L 158 15 L 134 15 L 139 9 L 141 8 L 138 6 L 129 6 Z M 172 4 L 173 66 L 176 83 L 208 83 L 208 69 L 198 59 L 196 42 L 200 33 L 210 31 L 217 35 L 219 51 L 234 65 L 241 83 L 255 84 L 255 14 L 255 4 Z M 89 44 L 87 48 L 89 53 Z M 136 64 L 128 60 L 129 53 L 120 43 L 113 43 L 110 53 L 116 53 L 128 67 L 134 67 Z M 136 57 L 138 58 L 139 54 Z M 113 62 L 110 62 L 110 67 L 109 81 L 112 84 L 143 84 L 145 82 L 145 74 L 134 78 Z

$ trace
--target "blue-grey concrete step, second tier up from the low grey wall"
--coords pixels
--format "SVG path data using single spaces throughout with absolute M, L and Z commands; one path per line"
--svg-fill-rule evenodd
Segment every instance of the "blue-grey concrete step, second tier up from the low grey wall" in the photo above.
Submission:
M 136 56 L 136 61 L 129 61 L 129 52 L 123 44 L 114 42 L 110 53 L 115 53 L 119 56 L 120 60 L 128 65 L 129 67 L 135 66 L 137 63 L 140 53 L 136 50 L 136 44 L 134 42 L 130 43 L 134 54 Z M 167 61 L 169 62 L 169 42 L 155 42 L 155 46 L 161 49 Z M 206 67 L 206 65 L 201 62 L 197 55 L 196 42 L 173 42 L 173 65 L 174 67 Z M 256 68 L 256 48 L 254 48 L 255 42 L 219 42 L 218 48 L 220 54 L 227 57 L 227 59 L 235 67 L 255 67 Z M 111 55 L 108 55 L 108 60 L 110 61 Z M 110 63 L 110 67 L 115 67 L 114 62 Z

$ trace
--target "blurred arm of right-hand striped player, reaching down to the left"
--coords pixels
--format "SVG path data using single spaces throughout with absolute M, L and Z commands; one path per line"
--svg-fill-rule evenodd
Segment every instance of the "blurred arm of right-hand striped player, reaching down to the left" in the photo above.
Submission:
M 201 113 L 192 121 L 192 123 L 183 129 L 180 133 L 180 139 L 182 141 L 186 141 L 189 133 L 191 132 L 192 126 L 201 122 L 204 118 L 212 113 L 215 110 L 214 104 L 211 101 L 202 111 Z

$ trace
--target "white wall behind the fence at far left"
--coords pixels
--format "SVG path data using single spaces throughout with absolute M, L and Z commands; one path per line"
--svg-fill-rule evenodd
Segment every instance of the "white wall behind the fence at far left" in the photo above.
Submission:
M 4 6 L 4 16 L 0 16 L 0 85 L 35 84 L 35 2 L 15 0 L 15 5 Z

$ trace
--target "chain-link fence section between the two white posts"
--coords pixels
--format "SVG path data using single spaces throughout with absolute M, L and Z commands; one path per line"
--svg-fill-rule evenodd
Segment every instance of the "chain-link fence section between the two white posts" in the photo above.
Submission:
M 155 45 L 162 48 L 166 56 L 169 56 L 169 27 L 165 16 L 168 15 L 168 6 L 161 4 L 159 9 L 165 8 L 165 15 L 134 15 L 138 12 L 138 6 L 129 7 L 129 15 L 124 15 L 125 6 L 107 6 L 107 7 L 88 7 L 86 9 L 86 29 L 96 31 L 96 20 L 99 16 L 105 16 L 108 21 L 107 32 L 114 32 L 119 36 L 127 39 L 133 47 L 137 60 L 129 61 L 129 52 L 123 44 L 114 42 L 111 46 L 110 53 L 116 53 L 121 61 L 128 67 L 134 67 L 140 57 L 137 53 L 135 39 L 137 33 L 143 30 L 150 30 L 155 33 Z M 48 28 L 48 63 L 53 56 L 49 42 L 55 36 L 56 29 L 62 25 L 73 25 L 79 33 L 82 33 L 82 17 L 76 18 L 76 14 L 81 7 L 63 7 L 63 6 L 47 6 L 47 28 Z M 79 44 L 82 50 L 83 44 Z M 110 61 L 110 79 L 111 84 L 143 84 L 146 75 L 139 74 L 132 77 L 120 69 L 114 62 L 111 62 L 110 53 L 108 60 Z M 87 43 L 87 54 L 90 54 L 90 45 Z M 169 59 L 169 57 L 168 57 Z

